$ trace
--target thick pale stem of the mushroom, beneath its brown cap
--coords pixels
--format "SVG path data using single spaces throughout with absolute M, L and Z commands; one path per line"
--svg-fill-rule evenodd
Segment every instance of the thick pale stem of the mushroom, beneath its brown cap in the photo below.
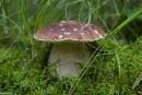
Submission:
M 90 57 L 90 51 L 83 43 L 58 43 L 55 44 L 49 57 L 50 63 L 57 63 L 57 75 L 78 78 L 81 72 L 81 66 Z

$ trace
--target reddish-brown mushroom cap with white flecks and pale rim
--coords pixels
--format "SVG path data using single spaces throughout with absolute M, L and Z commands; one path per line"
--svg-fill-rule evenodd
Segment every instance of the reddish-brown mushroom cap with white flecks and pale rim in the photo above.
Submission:
M 34 35 L 45 41 L 94 41 L 104 38 L 105 32 L 93 24 L 75 21 L 61 21 L 48 27 L 40 28 Z

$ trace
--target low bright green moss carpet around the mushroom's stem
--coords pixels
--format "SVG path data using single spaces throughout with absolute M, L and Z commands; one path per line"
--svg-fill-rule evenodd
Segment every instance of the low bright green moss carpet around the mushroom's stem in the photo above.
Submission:
M 108 43 L 102 44 L 103 52 L 97 54 L 95 61 L 76 85 L 76 80 L 59 81 L 50 67 L 42 68 L 45 57 L 45 50 L 42 48 L 45 45 L 40 44 L 42 48 L 35 48 L 32 58 L 31 52 L 24 48 L 0 48 L 1 92 L 68 95 L 74 85 L 72 92 L 75 95 L 134 94 L 137 91 L 132 90 L 132 86 L 142 71 L 141 39 L 131 45 L 116 44 L 110 39 L 105 41 Z

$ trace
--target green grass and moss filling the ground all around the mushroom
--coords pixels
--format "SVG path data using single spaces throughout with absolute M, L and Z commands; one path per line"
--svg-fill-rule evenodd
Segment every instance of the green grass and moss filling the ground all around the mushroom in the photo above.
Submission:
M 142 36 L 128 43 L 127 26 L 141 21 L 142 8 L 115 0 L 1 0 L 0 95 L 137 95 L 142 72 Z M 58 80 L 46 63 L 49 45 L 33 38 L 42 26 L 61 20 L 95 23 L 106 28 L 105 39 L 92 43 L 92 61 L 79 79 Z M 123 29 L 125 28 L 125 29 Z M 134 28 L 133 34 L 139 35 Z M 130 40 L 130 39 L 128 39 Z

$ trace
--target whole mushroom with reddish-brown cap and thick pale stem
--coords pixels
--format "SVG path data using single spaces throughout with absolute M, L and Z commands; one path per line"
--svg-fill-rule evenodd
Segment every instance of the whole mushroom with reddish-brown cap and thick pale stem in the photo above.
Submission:
M 90 58 L 90 51 L 84 41 L 104 38 L 105 32 L 93 24 L 76 21 L 61 21 L 37 31 L 34 38 L 52 43 L 49 63 L 56 63 L 57 75 L 78 78 L 81 66 Z

